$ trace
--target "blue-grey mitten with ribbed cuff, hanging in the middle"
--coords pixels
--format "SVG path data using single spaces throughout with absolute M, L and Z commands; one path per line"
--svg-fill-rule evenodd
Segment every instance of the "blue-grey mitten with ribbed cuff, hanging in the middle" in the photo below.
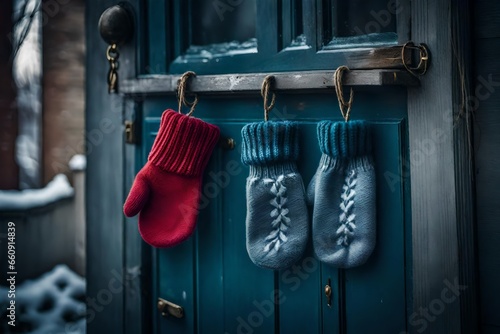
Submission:
M 241 130 L 247 178 L 246 243 L 258 266 L 284 269 L 306 248 L 309 226 L 302 177 L 297 171 L 298 124 L 258 122 Z

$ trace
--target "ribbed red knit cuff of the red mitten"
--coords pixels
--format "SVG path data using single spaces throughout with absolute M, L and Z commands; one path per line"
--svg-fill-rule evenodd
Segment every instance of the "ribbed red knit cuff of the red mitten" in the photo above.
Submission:
M 220 130 L 215 125 L 171 109 L 165 110 L 148 160 L 167 172 L 199 176 L 219 135 Z

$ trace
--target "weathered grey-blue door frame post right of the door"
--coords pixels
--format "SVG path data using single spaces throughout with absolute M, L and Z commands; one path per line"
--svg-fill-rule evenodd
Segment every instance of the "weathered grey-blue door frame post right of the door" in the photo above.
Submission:
M 471 113 L 461 105 L 472 96 L 467 81 L 472 78 L 470 2 L 413 0 L 411 6 L 411 39 L 426 43 L 432 60 L 421 87 L 408 89 L 413 249 L 413 310 L 408 315 L 409 327 L 414 326 L 409 332 L 425 327 L 426 333 L 474 333 Z M 455 280 L 467 288 L 459 289 L 459 302 L 447 303 L 444 296 Z M 444 310 L 438 311 L 438 305 Z M 430 317 L 421 314 L 423 308 L 430 309 Z

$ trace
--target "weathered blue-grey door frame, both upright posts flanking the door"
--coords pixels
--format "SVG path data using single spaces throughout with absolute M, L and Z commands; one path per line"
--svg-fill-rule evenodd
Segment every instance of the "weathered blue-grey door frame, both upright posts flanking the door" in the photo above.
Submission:
M 116 3 L 92 0 L 86 6 L 86 133 L 98 129 L 104 133 L 99 145 L 87 143 L 87 331 L 148 333 L 148 313 L 156 312 L 149 305 L 154 297 L 147 283 L 150 250 L 137 233 L 137 218 L 123 216 L 123 201 L 134 175 L 119 166 L 120 162 L 134 165 L 138 158 L 135 146 L 124 143 L 123 120 L 137 117 L 140 101 L 108 94 L 106 45 L 97 27 L 101 13 Z M 136 27 L 142 24 L 143 18 L 137 15 L 143 12 L 141 4 L 127 2 L 136 13 Z M 432 60 L 428 73 L 420 78 L 421 87 L 408 88 L 410 333 L 424 324 L 428 333 L 468 333 L 477 328 L 470 113 L 459 102 L 470 96 L 470 83 L 457 84 L 462 82 L 457 79 L 471 78 L 468 7 L 468 0 L 458 4 L 411 1 L 411 39 L 426 43 Z M 120 47 L 120 82 L 139 74 L 142 55 L 137 50 L 142 37 L 134 36 Z M 103 128 L 103 124 L 112 126 Z M 459 302 L 448 303 L 452 295 L 443 291 L 456 279 L 467 289 L 459 290 Z M 111 293 L 111 300 L 105 299 L 105 291 Z M 426 317 L 422 309 L 436 313 Z

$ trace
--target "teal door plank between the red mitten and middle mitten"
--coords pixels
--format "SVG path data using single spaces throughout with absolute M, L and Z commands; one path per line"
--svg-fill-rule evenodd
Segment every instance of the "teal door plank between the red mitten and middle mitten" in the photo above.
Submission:
M 216 115 L 217 108 L 218 104 L 212 104 L 204 109 Z M 239 141 L 244 122 L 206 120 L 219 125 L 224 137 Z M 201 218 L 197 230 L 200 333 L 232 333 L 232 328 L 247 326 L 267 333 L 274 331 L 273 316 L 254 311 L 263 305 L 274 305 L 274 274 L 256 267 L 246 256 L 245 224 L 241 220 L 246 203 L 241 194 L 245 193 L 247 174 L 239 150 L 220 147 L 205 173 L 202 196 L 206 198 L 210 211 L 206 217 L 210 220 Z M 205 213 L 201 211 L 202 216 Z M 213 298 L 216 305 L 211 302 Z

